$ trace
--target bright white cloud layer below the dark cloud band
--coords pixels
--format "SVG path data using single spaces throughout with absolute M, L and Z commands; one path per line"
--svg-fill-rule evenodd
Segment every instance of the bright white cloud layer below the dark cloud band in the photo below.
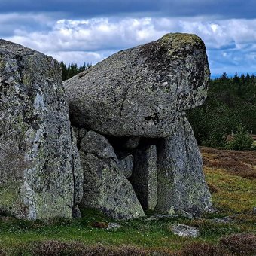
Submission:
M 37 17 L 38 23 L 42 20 L 42 17 Z M 246 69 L 245 65 L 248 72 L 256 71 L 253 71 L 256 66 L 255 31 L 256 19 L 112 17 L 58 20 L 49 31 L 44 32 L 31 32 L 21 27 L 7 39 L 40 50 L 58 60 L 95 64 L 117 50 L 154 41 L 168 32 L 189 32 L 199 35 L 205 41 L 212 73 L 215 74 L 219 69 L 223 69 L 222 72 L 239 71 L 239 67 Z

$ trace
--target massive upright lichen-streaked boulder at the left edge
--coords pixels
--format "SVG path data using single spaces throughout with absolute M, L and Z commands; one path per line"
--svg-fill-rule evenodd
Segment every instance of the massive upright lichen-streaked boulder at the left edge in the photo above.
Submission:
M 79 156 L 59 64 L 0 40 L 0 212 L 72 217 L 81 197 Z

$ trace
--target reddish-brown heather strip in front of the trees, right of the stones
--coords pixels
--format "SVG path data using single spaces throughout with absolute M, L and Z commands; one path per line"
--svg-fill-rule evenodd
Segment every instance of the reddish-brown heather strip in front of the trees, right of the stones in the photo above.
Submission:
M 213 169 L 224 169 L 231 175 L 256 179 L 256 152 L 229 151 L 214 148 L 200 148 L 204 166 Z

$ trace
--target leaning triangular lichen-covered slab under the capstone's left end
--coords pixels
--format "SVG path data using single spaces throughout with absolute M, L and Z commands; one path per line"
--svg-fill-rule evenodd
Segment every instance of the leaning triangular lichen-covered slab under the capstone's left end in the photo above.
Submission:
M 144 216 L 132 185 L 117 165 L 114 148 L 108 140 L 90 131 L 81 140 L 81 144 L 80 155 L 84 168 L 84 197 L 81 206 L 100 209 L 112 218 Z

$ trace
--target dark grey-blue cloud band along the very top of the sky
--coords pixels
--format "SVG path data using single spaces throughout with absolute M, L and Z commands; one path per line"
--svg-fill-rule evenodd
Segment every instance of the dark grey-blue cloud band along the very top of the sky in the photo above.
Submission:
M 0 12 L 57 12 L 65 18 L 116 15 L 256 17 L 254 0 L 1 0 Z

